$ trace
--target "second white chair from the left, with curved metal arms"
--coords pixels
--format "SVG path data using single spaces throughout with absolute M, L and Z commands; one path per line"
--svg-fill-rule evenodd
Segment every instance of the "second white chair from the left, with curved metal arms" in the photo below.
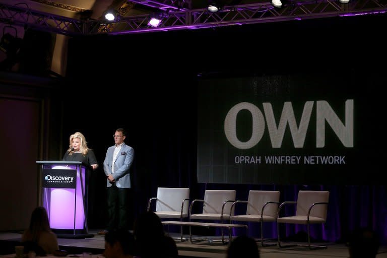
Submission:
M 224 220 L 230 219 L 232 203 L 235 202 L 236 190 L 206 190 L 204 192 L 204 200 L 193 200 L 189 206 L 189 221 L 197 220 Z M 192 207 L 195 203 L 202 202 L 202 213 L 192 214 Z M 189 227 L 189 235 L 191 236 L 191 227 Z M 224 243 L 224 234 L 222 228 L 222 243 Z

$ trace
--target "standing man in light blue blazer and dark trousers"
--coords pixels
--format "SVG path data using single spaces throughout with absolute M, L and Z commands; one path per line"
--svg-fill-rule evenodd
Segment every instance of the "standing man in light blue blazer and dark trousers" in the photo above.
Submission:
M 129 170 L 133 163 L 135 151 L 124 143 L 125 130 L 118 128 L 114 133 L 115 145 L 106 152 L 103 170 L 105 171 L 107 189 L 107 227 L 98 234 L 105 234 L 114 229 L 128 229 L 128 195 L 131 188 Z

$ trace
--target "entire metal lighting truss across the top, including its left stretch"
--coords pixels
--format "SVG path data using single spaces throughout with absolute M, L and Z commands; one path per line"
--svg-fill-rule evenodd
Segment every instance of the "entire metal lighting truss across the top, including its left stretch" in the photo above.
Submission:
M 145 3 L 146 0 L 135 0 Z M 134 1 L 134 2 L 135 2 Z M 164 0 L 175 4 L 178 0 Z M 152 1 L 153 4 L 164 3 Z M 151 3 L 148 1 L 147 3 Z M 163 9 L 163 7 L 159 8 Z M 0 22 L 28 25 L 41 30 L 70 35 L 129 34 L 153 31 L 201 29 L 217 26 L 268 23 L 277 21 L 316 19 L 335 16 L 378 14 L 387 12 L 387 0 L 357 0 L 340 4 L 334 0 L 293 1 L 276 9 L 269 3 L 225 7 L 217 13 L 206 9 L 165 9 L 158 14 L 162 18 L 159 27 L 147 25 L 150 16 L 123 17 L 118 21 L 78 21 L 66 17 L 36 12 L 20 7 L 0 5 Z

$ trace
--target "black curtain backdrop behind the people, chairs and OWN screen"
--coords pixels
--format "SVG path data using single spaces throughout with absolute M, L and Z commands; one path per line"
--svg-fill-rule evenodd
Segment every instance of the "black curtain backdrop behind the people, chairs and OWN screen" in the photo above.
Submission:
M 102 164 L 114 130 L 126 128 L 126 143 L 135 149 L 135 216 L 146 209 L 158 186 L 190 187 L 193 199 L 211 188 L 236 188 L 239 199 L 247 197 L 248 189 L 280 189 L 281 201 L 294 200 L 298 189 L 329 189 L 327 233 L 315 237 L 339 240 L 349 229 L 369 225 L 384 239 L 383 186 L 206 184 L 197 183 L 196 166 L 198 75 L 384 72 L 376 62 L 385 60 L 381 34 L 386 20 L 386 15 L 340 17 L 72 38 L 63 95 L 63 152 L 68 137 L 80 131 Z M 354 197 L 360 202 L 351 202 Z M 105 198 L 100 167 L 90 184 L 92 228 L 105 224 Z

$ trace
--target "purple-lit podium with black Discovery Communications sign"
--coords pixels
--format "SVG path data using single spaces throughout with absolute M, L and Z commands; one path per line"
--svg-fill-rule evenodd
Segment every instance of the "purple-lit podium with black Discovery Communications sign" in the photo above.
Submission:
M 62 238 L 87 238 L 88 169 L 80 161 L 36 161 L 41 165 L 41 206 L 51 230 Z

